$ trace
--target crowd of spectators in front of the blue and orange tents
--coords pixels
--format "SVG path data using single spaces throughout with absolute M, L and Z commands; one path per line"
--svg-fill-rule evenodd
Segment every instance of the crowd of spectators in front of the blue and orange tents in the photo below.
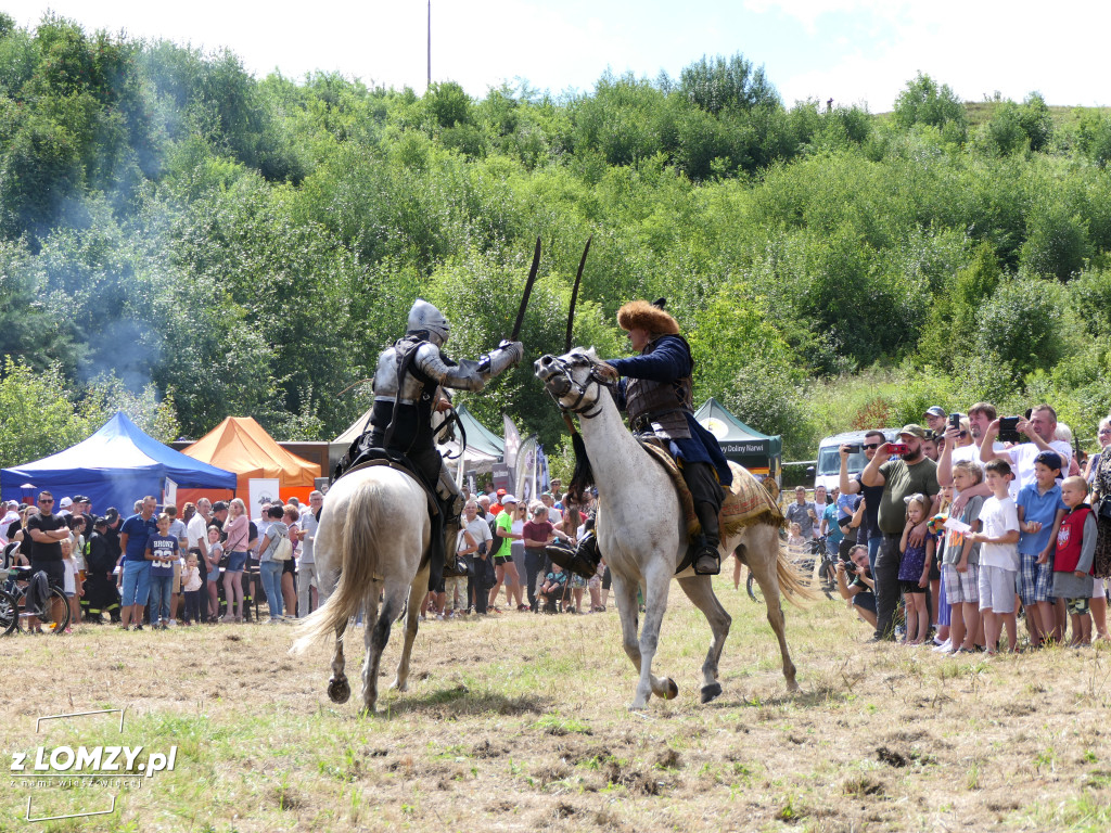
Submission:
M 260 602 L 264 621 L 280 623 L 319 604 L 313 541 L 322 505 L 313 491 L 308 506 L 296 498 L 263 503 L 252 520 L 238 498 L 201 498 L 179 518 L 177 506 L 159 510 L 147 495 L 131 513 L 112 506 L 94 515 L 84 495 L 56 508 L 43 491 L 34 505 L 4 504 L 0 539 L 4 566 L 42 571 L 66 594 L 68 630 L 80 622 L 123 630 L 244 622 Z M 38 620 L 29 624 L 41 631 Z

